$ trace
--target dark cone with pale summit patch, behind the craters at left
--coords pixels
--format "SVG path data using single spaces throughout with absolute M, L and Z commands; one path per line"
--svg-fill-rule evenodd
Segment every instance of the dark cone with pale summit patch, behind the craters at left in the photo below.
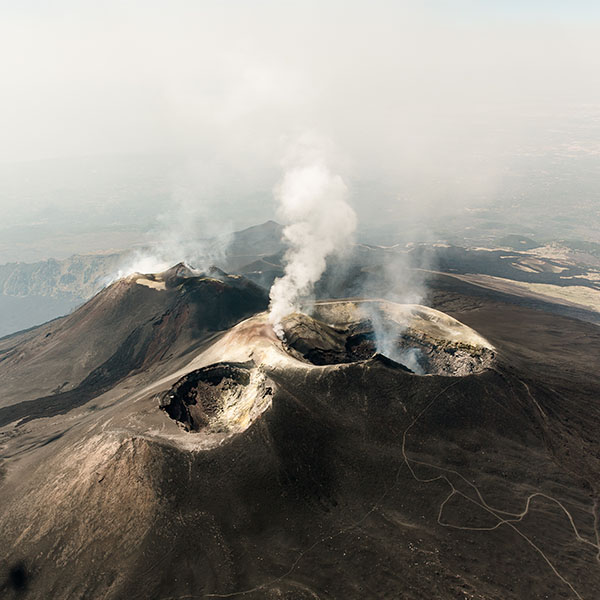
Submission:
M 0 340 L 0 423 L 31 416 L 23 401 L 40 415 L 82 404 L 266 305 L 258 286 L 218 269 L 176 265 L 118 280 L 73 314 Z

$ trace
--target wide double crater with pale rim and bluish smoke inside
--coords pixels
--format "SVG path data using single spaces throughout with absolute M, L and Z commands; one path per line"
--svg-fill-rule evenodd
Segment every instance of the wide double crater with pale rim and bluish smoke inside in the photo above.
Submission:
M 315 365 L 379 354 L 416 375 L 464 376 L 482 371 L 494 359 L 493 347 L 472 329 L 415 305 L 322 303 L 314 316 L 296 313 L 282 325 L 288 351 Z

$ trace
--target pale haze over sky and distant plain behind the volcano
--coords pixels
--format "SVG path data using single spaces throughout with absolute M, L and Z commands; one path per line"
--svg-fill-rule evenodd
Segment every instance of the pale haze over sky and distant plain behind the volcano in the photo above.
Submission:
M 590 3 L 0 11 L 2 262 L 155 240 L 179 221 L 207 237 L 270 218 L 281 159 L 306 131 L 335 144 L 363 232 L 411 219 L 429 232 L 494 203 L 531 202 L 536 223 L 547 202 L 598 201 Z

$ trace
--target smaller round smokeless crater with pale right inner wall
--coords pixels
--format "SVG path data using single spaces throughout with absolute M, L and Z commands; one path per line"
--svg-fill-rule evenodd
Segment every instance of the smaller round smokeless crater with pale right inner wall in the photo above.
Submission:
M 160 408 L 186 431 L 243 431 L 273 395 L 273 383 L 252 367 L 218 363 L 192 371 L 160 397 Z

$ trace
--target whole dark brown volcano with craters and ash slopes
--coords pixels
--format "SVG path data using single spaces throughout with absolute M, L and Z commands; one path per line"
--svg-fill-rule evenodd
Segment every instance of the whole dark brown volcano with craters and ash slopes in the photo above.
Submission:
M 593 599 L 600 333 L 436 298 L 280 339 L 178 265 L 0 340 L 3 597 Z

